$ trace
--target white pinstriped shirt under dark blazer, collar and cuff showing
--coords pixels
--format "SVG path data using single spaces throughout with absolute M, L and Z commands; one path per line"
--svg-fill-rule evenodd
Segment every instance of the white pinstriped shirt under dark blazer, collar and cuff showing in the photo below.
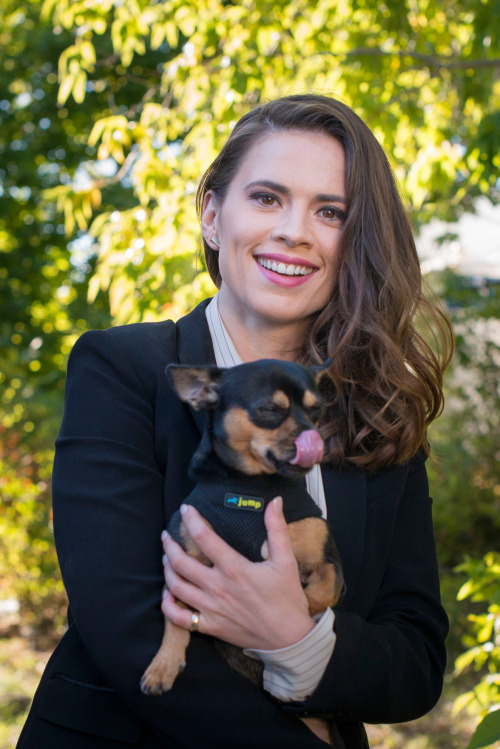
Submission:
M 206 317 L 218 367 L 241 364 L 217 305 L 217 294 L 206 308 Z M 326 518 L 321 470 L 313 466 L 306 476 L 307 490 Z M 279 650 L 247 649 L 246 655 L 264 663 L 264 689 L 283 701 L 305 700 L 318 686 L 335 647 L 335 614 L 328 608 L 316 626 L 299 642 Z

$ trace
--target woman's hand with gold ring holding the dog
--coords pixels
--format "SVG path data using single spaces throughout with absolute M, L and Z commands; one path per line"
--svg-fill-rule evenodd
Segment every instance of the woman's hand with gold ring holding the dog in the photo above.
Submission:
M 170 536 L 163 547 L 167 592 L 162 611 L 189 629 L 191 614 L 176 599 L 200 613 L 199 631 L 241 648 L 275 650 L 292 645 L 313 627 L 292 552 L 282 499 L 266 508 L 268 559 L 250 562 L 207 526 L 194 507 L 181 508 L 192 538 L 212 562 L 207 567 L 188 556 Z

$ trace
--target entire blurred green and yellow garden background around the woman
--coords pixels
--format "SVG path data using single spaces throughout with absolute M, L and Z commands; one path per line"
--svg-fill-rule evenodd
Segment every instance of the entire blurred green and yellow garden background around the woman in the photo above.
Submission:
M 465 748 L 484 716 L 470 746 L 500 738 L 498 10 L 2 0 L 0 749 L 64 628 L 50 475 L 68 353 L 89 328 L 175 319 L 213 292 L 198 179 L 249 108 L 306 91 L 341 98 L 385 148 L 457 334 L 429 434 L 446 689 L 420 721 L 371 726 L 372 745 Z

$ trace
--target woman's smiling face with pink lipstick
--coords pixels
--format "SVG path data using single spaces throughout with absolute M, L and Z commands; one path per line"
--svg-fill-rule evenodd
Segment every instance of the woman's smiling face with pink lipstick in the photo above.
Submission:
M 337 140 L 296 130 L 257 141 L 222 203 L 205 196 L 203 233 L 220 244 L 223 318 L 304 331 L 331 297 L 344 219 Z

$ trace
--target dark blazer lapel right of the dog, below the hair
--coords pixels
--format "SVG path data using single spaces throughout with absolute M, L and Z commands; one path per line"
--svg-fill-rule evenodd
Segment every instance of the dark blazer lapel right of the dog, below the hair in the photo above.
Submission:
M 328 523 L 337 543 L 344 568 L 346 604 L 354 594 L 365 540 L 366 478 L 356 468 L 332 469 L 323 466 Z

